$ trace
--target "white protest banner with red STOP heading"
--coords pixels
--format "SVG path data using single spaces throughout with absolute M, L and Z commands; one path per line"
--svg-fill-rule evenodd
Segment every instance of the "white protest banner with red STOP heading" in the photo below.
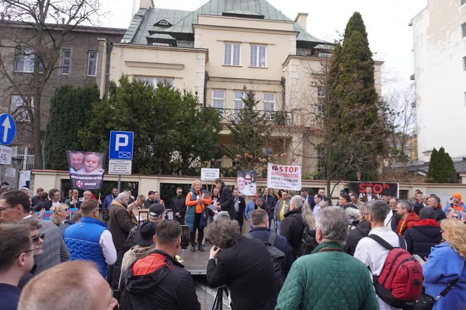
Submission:
M 301 167 L 267 163 L 267 187 L 271 189 L 301 189 Z

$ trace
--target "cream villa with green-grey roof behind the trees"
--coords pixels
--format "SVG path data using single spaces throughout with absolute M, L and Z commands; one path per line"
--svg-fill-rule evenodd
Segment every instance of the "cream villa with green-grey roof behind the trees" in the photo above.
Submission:
M 319 77 L 332 46 L 307 32 L 306 13 L 295 20 L 265 0 L 211 0 L 196 11 L 155 8 L 141 0 L 121 43 L 112 44 L 109 72 L 157 86 L 159 81 L 197 93 L 202 107 L 221 110 L 226 124 L 243 105 L 247 90 L 273 126 L 265 154 L 284 152 L 303 173 L 318 170 Z M 105 47 L 102 47 L 105 48 Z M 375 62 L 380 93 L 381 62 Z M 103 95 L 103 93 L 102 93 Z M 229 130 L 220 133 L 228 144 Z M 224 167 L 232 160 L 224 156 Z

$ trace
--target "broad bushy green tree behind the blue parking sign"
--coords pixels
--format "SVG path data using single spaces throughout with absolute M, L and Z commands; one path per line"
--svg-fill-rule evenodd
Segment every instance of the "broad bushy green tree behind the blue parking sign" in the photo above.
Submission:
M 221 128 L 218 112 L 199 109 L 196 95 L 122 76 L 118 85 L 110 83 L 108 100 L 93 105 L 79 139 L 106 152 L 110 130 L 133 131 L 133 173 L 198 175 L 202 163 L 215 158 Z

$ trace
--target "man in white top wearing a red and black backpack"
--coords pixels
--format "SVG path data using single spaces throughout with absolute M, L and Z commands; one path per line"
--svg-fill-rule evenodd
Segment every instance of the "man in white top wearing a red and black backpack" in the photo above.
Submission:
M 403 237 L 385 226 L 384 201 L 366 203 L 364 215 L 371 231 L 359 241 L 354 257 L 371 271 L 380 309 L 413 306 L 422 291 L 422 267 L 406 251 Z

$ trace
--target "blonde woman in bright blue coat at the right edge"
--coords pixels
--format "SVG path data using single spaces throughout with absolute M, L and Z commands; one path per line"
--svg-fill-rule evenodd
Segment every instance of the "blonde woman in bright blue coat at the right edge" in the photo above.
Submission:
M 458 220 L 443 220 L 440 228 L 445 241 L 432 248 L 427 263 L 422 266 L 425 294 L 439 298 L 434 303 L 434 310 L 464 310 L 466 225 Z

